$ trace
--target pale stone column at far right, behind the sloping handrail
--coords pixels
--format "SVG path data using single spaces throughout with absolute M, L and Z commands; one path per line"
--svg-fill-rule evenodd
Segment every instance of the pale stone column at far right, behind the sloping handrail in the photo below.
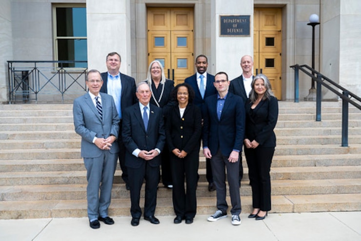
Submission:
M 360 1 L 321 2 L 321 73 L 361 96 Z M 328 91 L 324 99 L 333 96 Z

